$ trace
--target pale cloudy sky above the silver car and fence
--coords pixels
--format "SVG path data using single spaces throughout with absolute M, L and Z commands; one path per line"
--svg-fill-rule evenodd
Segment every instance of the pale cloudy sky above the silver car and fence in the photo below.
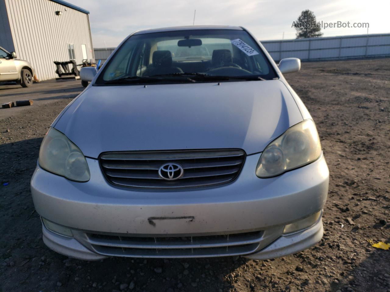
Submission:
M 293 21 L 310 9 L 317 21 L 369 23 L 369 33 L 390 33 L 389 0 L 66 0 L 90 11 L 92 42 L 116 47 L 137 30 L 167 26 L 237 25 L 259 40 L 295 39 Z M 367 28 L 326 28 L 323 37 L 365 34 Z

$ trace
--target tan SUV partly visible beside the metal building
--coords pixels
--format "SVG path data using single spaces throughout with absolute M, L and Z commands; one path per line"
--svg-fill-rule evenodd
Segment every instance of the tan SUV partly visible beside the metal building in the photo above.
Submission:
M 34 69 L 24 60 L 16 59 L 15 52 L 9 53 L 0 47 L 0 82 L 16 81 L 23 87 L 32 85 Z

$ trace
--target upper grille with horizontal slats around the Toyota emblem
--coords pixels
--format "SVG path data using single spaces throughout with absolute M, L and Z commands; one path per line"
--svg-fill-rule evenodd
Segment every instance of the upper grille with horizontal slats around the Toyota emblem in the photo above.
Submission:
M 110 183 L 133 188 L 196 188 L 229 183 L 237 178 L 245 160 L 243 150 L 184 150 L 109 152 L 99 157 Z M 183 176 L 165 180 L 164 164 L 183 168 Z

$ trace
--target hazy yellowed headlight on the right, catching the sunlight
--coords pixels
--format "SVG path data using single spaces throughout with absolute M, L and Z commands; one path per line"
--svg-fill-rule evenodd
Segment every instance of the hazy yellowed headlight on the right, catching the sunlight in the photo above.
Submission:
M 305 120 L 289 128 L 264 149 L 257 162 L 256 175 L 259 178 L 277 176 L 309 164 L 320 155 L 316 125 L 312 120 Z

